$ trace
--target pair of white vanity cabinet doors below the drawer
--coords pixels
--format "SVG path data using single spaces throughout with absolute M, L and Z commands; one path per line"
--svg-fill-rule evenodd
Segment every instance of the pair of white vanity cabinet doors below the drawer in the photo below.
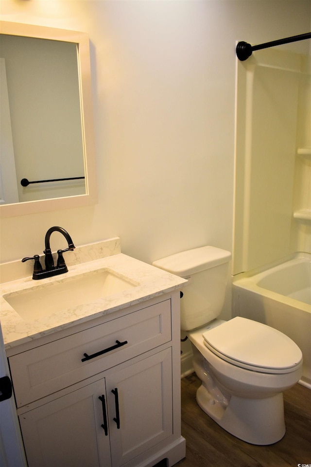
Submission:
M 29 466 L 110 467 L 137 457 L 173 434 L 171 379 L 166 349 L 19 415 Z

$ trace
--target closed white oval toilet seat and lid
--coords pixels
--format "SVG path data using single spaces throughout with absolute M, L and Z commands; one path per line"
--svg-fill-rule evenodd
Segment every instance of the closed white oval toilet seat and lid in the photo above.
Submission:
M 266 324 L 236 317 L 203 333 L 207 348 L 240 368 L 261 373 L 291 373 L 302 360 L 299 347 Z

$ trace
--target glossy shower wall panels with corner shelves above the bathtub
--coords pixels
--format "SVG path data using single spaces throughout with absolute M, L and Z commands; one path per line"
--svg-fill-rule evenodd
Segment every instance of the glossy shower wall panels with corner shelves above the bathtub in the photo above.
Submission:
M 273 49 L 237 63 L 233 274 L 310 251 L 308 63 Z

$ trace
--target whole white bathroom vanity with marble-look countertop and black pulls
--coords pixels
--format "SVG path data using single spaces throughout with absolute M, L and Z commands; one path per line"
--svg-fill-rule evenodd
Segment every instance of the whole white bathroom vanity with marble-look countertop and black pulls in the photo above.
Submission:
M 34 316 L 33 304 L 21 317 L 9 303 L 103 270 L 132 287 L 67 311 L 58 311 L 55 298 L 55 312 L 43 317 Z M 121 253 L 69 267 L 64 276 L 1 287 L 29 467 L 152 467 L 162 459 L 173 466 L 185 456 L 179 297 L 186 281 Z

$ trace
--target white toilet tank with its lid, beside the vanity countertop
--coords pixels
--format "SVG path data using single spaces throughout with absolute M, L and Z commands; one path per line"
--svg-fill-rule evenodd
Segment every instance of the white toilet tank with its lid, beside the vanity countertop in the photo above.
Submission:
M 229 251 L 206 246 L 182 251 L 153 266 L 188 279 L 183 288 L 180 327 L 190 331 L 217 318 L 224 306 L 228 280 Z

